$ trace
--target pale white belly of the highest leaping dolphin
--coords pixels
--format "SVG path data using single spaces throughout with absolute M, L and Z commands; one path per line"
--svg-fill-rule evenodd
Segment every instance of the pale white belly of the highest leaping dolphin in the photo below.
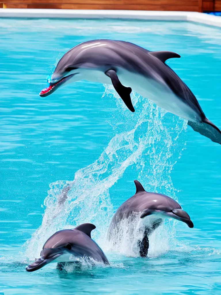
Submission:
M 80 76 L 84 80 L 112 84 L 111 79 L 101 71 L 81 69 L 80 75 L 76 77 L 77 80 Z M 118 78 L 124 86 L 131 87 L 133 91 L 150 99 L 166 111 L 190 121 L 197 122 L 200 120 L 199 115 L 177 97 L 163 81 L 162 83 L 157 82 L 154 79 L 124 69 L 119 69 Z

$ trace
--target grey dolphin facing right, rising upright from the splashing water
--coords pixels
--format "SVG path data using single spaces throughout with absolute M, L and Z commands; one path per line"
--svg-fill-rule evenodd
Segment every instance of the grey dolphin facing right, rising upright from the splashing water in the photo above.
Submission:
M 189 227 L 193 227 L 193 223 L 187 212 L 183 211 L 175 200 L 162 194 L 145 191 L 137 180 L 134 180 L 134 183 L 136 193 L 117 209 L 110 222 L 108 236 L 109 240 L 111 240 L 112 235 L 120 230 L 123 219 L 134 218 L 137 215 L 140 218 L 153 215 L 151 226 L 144 228 L 143 239 L 138 241 L 140 255 L 146 257 L 149 248 L 148 236 L 162 223 L 162 219 L 174 218 L 185 222 Z

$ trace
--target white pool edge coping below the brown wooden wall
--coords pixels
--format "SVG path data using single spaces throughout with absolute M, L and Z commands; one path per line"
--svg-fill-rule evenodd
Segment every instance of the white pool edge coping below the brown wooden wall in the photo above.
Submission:
M 219 16 L 186 11 L 0 8 L 0 17 L 171 20 L 198 22 L 221 27 L 221 17 Z

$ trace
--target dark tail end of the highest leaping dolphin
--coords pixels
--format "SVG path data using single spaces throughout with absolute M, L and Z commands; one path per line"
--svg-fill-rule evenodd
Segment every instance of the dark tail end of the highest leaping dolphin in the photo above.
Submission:
M 203 122 L 192 122 L 188 121 L 189 126 L 193 128 L 194 131 L 210 138 L 213 142 L 217 142 L 221 145 L 221 131 L 216 125 L 214 125 L 207 118 L 203 119 Z

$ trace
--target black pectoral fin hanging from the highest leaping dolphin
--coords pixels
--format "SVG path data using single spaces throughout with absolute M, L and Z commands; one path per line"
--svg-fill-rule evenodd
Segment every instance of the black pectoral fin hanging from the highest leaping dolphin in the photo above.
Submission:
M 123 102 L 126 104 L 126 106 L 128 107 L 128 109 L 131 112 L 135 112 L 135 109 L 133 107 L 133 104 L 131 102 L 131 87 L 125 87 L 121 84 L 121 82 L 118 79 L 118 76 L 116 74 L 116 71 L 114 70 L 109 70 L 105 72 L 105 75 L 107 75 L 108 77 L 110 77 L 111 82 L 113 84 L 114 89 L 117 91 L 117 93 L 120 95 L 121 99 L 123 100 Z

